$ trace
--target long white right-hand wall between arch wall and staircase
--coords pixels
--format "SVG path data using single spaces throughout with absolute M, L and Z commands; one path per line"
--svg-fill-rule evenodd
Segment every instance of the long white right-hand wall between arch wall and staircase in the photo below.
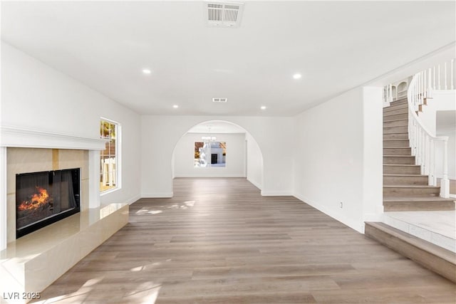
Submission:
M 295 196 L 357 231 L 382 211 L 381 96 L 356 88 L 295 119 Z

